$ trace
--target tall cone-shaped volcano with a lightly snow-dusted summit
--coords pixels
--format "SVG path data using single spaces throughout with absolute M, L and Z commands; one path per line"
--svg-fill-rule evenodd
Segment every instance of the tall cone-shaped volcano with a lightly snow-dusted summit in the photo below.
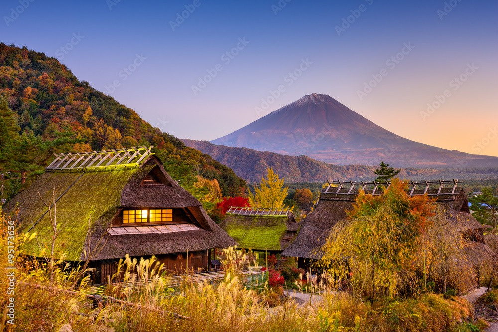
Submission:
M 417 143 L 393 134 L 327 95 L 311 94 L 211 141 L 288 155 L 307 155 L 338 165 L 496 167 L 498 157 L 469 155 Z M 471 157 L 469 157 L 471 156 Z

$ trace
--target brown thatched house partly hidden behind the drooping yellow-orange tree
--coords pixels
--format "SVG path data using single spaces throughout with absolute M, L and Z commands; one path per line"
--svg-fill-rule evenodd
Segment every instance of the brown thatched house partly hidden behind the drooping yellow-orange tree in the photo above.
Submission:
M 435 197 L 438 204 L 453 218 L 455 226 L 469 241 L 484 244 L 483 226 L 470 215 L 467 195 L 457 187 L 457 181 L 411 182 L 408 195 L 427 193 Z M 325 244 L 329 230 L 340 220 L 346 218 L 346 210 L 353 208 L 352 203 L 360 189 L 366 194 L 380 195 L 381 185 L 389 184 L 367 182 L 333 181 L 320 193 L 320 199 L 313 211 L 301 221 L 296 239 L 282 252 L 284 256 L 298 257 L 299 267 L 305 267 L 314 259 L 321 258 L 319 248 Z M 469 250 L 472 250 L 470 248 Z

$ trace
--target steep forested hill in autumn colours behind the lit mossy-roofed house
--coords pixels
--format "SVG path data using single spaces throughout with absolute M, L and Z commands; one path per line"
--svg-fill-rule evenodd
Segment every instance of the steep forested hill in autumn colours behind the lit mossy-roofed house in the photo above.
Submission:
M 141 145 L 154 145 L 186 189 L 199 189 L 200 174 L 217 179 L 224 196 L 244 191 L 244 180 L 230 168 L 153 128 L 55 58 L 0 43 L 0 170 L 10 171 L 7 179 L 23 178 L 5 181 L 7 199 L 42 173 L 53 153 Z

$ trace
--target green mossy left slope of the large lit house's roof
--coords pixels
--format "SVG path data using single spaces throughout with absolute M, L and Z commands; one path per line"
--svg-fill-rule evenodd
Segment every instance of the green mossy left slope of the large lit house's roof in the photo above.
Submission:
M 29 190 L 20 193 L 13 200 L 19 202 L 19 219 L 22 221 L 19 230 L 29 231 L 30 234 L 36 232 L 38 240 L 50 247 L 53 235 L 50 215 L 45 213 L 48 208 L 44 206 L 38 193 L 49 204 L 55 188 L 55 198 L 60 197 L 55 205 L 60 231 L 56 252 L 64 252 L 68 260 L 79 260 L 87 239 L 89 219 L 93 233 L 97 229 L 106 228 L 109 220 L 118 212 L 124 186 L 138 171 L 140 169 L 135 167 L 85 173 L 45 172 Z M 54 212 L 52 208 L 52 215 Z M 22 249 L 26 254 L 41 256 L 36 239 L 25 243 Z

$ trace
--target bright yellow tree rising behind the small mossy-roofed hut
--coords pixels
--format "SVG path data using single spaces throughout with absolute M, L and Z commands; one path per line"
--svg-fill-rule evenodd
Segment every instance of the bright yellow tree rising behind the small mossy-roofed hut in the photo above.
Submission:
M 288 187 L 283 186 L 283 179 L 278 178 L 278 174 L 268 168 L 266 178 L 261 178 L 259 188 L 254 188 L 254 194 L 249 190 L 249 204 L 256 208 L 282 209 L 283 200 L 287 196 Z

